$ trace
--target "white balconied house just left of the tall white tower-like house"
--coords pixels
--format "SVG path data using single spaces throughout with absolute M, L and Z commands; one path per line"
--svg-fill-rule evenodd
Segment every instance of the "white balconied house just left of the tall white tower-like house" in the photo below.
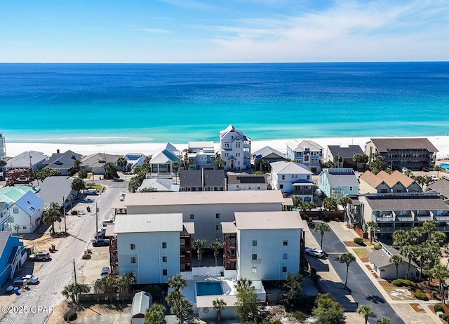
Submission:
M 215 149 L 213 142 L 189 142 L 187 147 L 189 170 L 215 169 Z

